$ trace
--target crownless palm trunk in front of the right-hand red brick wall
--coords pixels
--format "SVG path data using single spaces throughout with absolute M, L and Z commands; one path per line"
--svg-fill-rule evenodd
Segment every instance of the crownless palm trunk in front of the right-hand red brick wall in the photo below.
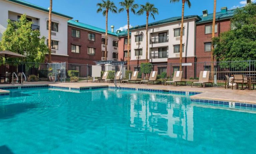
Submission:
M 214 8 L 213 8 L 213 24 L 212 24 L 212 38 L 215 37 L 215 20 L 216 20 L 216 0 L 214 0 Z M 214 45 L 212 43 L 211 46 L 212 54 L 211 54 L 211 78 L 212 80 L 214 79 L 214 55 L 213 55 L 213 50 L 214 50 Z

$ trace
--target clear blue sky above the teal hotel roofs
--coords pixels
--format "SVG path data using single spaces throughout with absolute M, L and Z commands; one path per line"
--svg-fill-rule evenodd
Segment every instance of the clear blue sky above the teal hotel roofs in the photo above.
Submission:
M 49 0 L 25 0 L 27 2 L 48 8 Z M 101 0 L 52 0 L 53 10 L 65 15 L 71 16 L 79 22 L 83 22 L 89 25 L 93 25 L 99 28 L 105 29 L 105 17 L 101 13 L 96 13 L 96 4 Z M 117 8 L 119 8 L 119 2 L 121 0 L 112 0 Z M 213 12 L 213 0 L 190 0 L 191 8 L 185 7 L 185 15 L 202 15 L 202 10 L 207 9 L 208 13 Z M 243 2 L 246 0 L 217 0 L 216 11 L 219 12 L 221 7 L 227 6 L 228 9 L 232 7 L 243 6 Z M 256 1 L 256 0 L 254 0 Z M 170 3 L 170 0 L 135 0 L 137 4 L 145 4 L 150 2 L 155 4 L 155 7 L 159 9 L 159 15 L 156 15 L 156 21 L 166 19 L 169 17 L 181 16 L 182 3 Z M 149 22 L 154 22 L 152 18 Z M 146 16 L 130 15 L 130 24 L 132 26 L 143 25 L 146 23 Z M 108 15 L 108 29 L 110 25 L 115 26 L 115 30 L 127 25 L 126 12 Z

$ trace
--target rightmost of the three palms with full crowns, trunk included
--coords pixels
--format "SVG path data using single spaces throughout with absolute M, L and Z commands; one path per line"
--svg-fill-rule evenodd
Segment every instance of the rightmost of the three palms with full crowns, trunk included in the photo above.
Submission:
M 148 24 L 149 24 L 149 15 L 155 20 L 155 14 L 158 14 L 158 9 L 155 8 L 154 4 L 147 2 L 145 5 L 141 5 L 140 10 L 137 12 L 138 15 L 142 15 L 146 12 L 147 21 L 146 21 L 146 63 L 148 60 Z

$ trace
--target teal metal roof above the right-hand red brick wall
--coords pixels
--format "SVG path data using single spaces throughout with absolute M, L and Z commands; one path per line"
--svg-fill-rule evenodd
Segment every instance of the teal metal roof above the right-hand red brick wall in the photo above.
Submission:
M 234 16 L 236 9 L 227 10 L 227 12 L 216 12 L 216 21 L 218 20 L 224 20 L 224 19 L 230 19 Z M 200 16 L 201 20 L 197 21 L 196 23 L 203 23 L 203 22 L 209 22 L 213 20 L 213 13 L 208 14 L 207 16 Z

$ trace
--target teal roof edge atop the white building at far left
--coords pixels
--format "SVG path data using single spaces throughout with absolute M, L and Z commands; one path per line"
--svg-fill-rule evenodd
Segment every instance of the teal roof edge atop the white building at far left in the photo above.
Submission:
M 38 9 L 38 10 L 44 11 L 44 12 L 49 12 L 49 10 L 44 8 L 44 7 L 41 7 L 41 6 L 32 4 L 32 3 L 26 2 L 26 1 L 23 1 L 23 0 L 8 0 L 8 1 L 14 2 L 14 3 L 17 3 L 17 4 L 21 4 L 21 5 L 25 5 L 25 6 L 34 8 L 34 9 Z M 52 14 L 55 14 L 55 15 L 58 15 L 58 16 L 62 16 L 62 17 L 68 18 L 68 19 L 73 19 L 73 17 L 67 16 L 67 15 L 64 15 L 64 14 L 61 14 L 61 13 L 58 13 L 58 12 L 55 12 L 55 11 L 52 11 Z

